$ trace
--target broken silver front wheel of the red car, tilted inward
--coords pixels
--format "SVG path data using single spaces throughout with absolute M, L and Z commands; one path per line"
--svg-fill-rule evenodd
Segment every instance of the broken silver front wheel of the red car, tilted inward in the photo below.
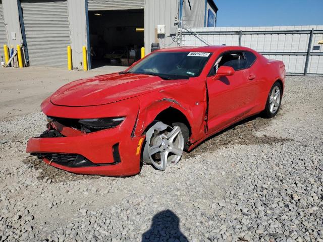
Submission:
M 142 159 L 146 164 L 165 170 L 168 165 L 179 162 L 187 140 L 188 128 L 184 124 L 169 126 L 155 121 L 146 132 Z

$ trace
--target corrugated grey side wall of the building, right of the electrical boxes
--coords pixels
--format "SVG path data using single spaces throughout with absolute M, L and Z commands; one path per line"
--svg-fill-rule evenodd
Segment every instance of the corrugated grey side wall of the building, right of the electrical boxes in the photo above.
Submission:
M 190 27 L 203 27 L 205 0 L 183 0 L 183 23 Z

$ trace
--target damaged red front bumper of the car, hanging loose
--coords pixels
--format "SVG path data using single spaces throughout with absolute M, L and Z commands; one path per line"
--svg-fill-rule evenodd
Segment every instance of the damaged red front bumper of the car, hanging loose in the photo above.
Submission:
M 122 108 L 120 103 L 123 104 Z M 131 137 L 139 106 L 133 100 L 120 103 L 85 107 L 92 117 L 102 117 L 104 110 L 105 113 L 114 113 L 114 116 L 126 116 L 119 126 L 88 134 L 70 134 L 68 137 L 31 138 L 26 152 L 41 157 L 51 166 L 78 174 L 129 176 L 139 173 L 140 149 L 144 136 Z M 42 104 L 45 114 L 57 117 L 63 116 L 63 109 L 64 112 L 68 111 L 65 113 L 69 114 L 69 118 L 81 118 L 80 113 L 75 111 L 81 110 L 79 108 L 56 106 L 50 101 L 45 103 L 45 107 Z M 94 109 L 98 110 L 98 114 L 94 114 Z M 87 162 L 84 165 L 74 165 L 76 157 L 83 157 Z M 61 162 L 62 159 L 65 162 Z

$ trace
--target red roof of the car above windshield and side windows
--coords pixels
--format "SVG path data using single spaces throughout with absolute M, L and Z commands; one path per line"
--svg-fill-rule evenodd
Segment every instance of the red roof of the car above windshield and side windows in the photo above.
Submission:
M 209 45 L 209 46 L 180 46 L 159 49 L 158 52 L 164 51 L 179 51 L 179 52 L 224 52 L 230 50 L 248 50 L 254 52 L 254 50 L 243 46 L 229 46 L 229 45 Z

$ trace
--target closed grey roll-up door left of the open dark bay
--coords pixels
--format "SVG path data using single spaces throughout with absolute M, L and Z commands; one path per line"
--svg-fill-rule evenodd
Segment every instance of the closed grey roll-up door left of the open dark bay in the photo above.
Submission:
M 21 1 L 30 66 L 67 65 L 70 44 L 66 1 Z

